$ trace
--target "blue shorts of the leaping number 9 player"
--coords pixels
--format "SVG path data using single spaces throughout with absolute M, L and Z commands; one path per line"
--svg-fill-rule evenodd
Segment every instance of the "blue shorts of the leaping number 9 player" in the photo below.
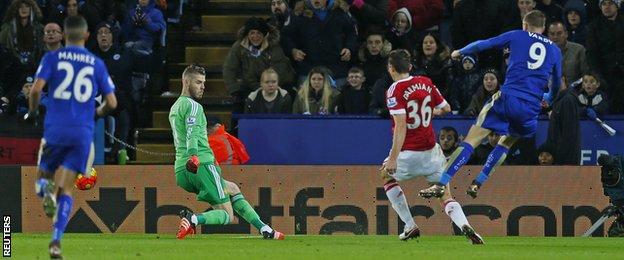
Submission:
M 501 135 L 531 137 L 537 129 L 540 102 L 496 92 L 477 118 L 477 126 Z

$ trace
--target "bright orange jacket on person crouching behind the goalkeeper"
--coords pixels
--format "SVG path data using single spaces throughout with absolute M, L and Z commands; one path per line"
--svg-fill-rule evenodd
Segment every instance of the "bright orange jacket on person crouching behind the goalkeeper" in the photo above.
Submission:
M 218 118 L 206 118 L 206 127 L 208 144 L 219 164 L 238 165 L 249 161 L 249 154 L 243 142 L 226 132 L 225 126 L 219 123 Z

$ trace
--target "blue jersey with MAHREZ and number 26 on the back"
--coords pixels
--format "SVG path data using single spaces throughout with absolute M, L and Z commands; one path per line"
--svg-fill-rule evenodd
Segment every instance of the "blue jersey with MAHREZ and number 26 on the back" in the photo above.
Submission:
M 95 96 L 115 85 L 104 62 L 87 49 L 68 46 L 48 52 L 36 78 L 48 85 L 43 137 L 49 144 L 90 144 L 93 140 Z

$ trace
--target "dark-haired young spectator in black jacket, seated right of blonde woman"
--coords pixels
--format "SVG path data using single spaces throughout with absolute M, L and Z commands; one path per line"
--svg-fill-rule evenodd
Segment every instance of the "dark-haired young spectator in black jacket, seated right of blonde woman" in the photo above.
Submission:
M 366 81 L 364 70 L 353 67 L 349 70 L 347 83 L 338 95 L 338 114 L 356 115 L 367 114 L 370 103 L 370 93 L 364 88 Z

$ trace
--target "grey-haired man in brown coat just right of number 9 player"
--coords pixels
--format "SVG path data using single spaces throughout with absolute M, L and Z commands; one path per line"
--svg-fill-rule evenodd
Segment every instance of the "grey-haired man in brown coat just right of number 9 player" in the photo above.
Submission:
M 568 31 L 565 25 L 559 21 L 548 26 L 548 38 L 561 50 L 563 76 L 573 82 L 589 72 L 585 47 L 578 43 L 568 41 Z

